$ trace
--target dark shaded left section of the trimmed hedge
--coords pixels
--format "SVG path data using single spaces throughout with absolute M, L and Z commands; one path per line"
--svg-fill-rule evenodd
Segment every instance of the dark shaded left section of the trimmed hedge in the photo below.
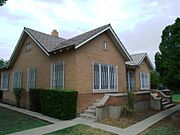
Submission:
M 41 112 L 40 89 L 29 90 L 29 108 L 35 112 Z

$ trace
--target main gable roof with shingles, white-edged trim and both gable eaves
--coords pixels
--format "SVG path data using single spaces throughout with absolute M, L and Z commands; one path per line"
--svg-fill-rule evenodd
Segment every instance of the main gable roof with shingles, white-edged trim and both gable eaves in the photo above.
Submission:
M 81 47 L 82 45 L 94 39 L 95 37 L 97 37 L 98 35 L 102 34 L 105 31 L 107 31 L 110 38 L 116 44 L 116 46 L 122 53 L 123 57 L 125 58 L 125 60 L 126 61 L 132 60 L 131 56 L 125 49 L 122 42 L 119 40 L 118 36 L 114 32 L 110 24 L 98 27 L 96 29 L 85 32 L 83 34 L 80 34 L 70 39 L 55 37 L 55 36 L 45 34 L 45 33 L 25 27 L 14 49 L 14 52 L 11 55 L 8 67 L 13 65 L 13 61 L 15 60 L 15 57 L 18 55 L 18 52 L 20 51 L 20 48 L 27 36 L 30 36 L 36 42 L 36 44 L 49 56 L 53 52 L 56 52 L 56 51 L 59 51 L 61 49 L 68 48 L 68 47 L 74 47 L 74 49 L 78 49 L 79 47 Z

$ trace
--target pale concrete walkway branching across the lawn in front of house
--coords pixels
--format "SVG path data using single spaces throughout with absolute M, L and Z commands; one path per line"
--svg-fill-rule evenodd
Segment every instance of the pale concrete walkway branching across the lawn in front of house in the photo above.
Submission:
M 43 120 L 46 120 L 48 122 L 54 123 L 48 126 L 43 126 L 43 127 L 38 127 L 38 128 L 34 128 L 34 129 L 30 129 L 30 130 L 25 130 L 25 131 L 21 131 L 21 132 L 16 132 L 13 133 L 11 135 L 43 135 L 43 134 L 47 134 L 53 131 L 57 131 L 63 128 L 67 128 L 67 127 L 71 127 L 77 124 L 84 124 L 84 125 L 88 125 L 91 126 L 93 128 L 99 128 L 108 132 L 112 132 L 115 134 L 120 134 L 120 135 L 136 135 L 140 132 L 142 132 L 143 130 L 147 129 L 148 127 L 152 126 L 154 123 L 160 121 L 161 119 L 169 116 L 170 114 L 174 113 L 177 110 L 180 110 L 180 104 L 176 105 L 175 107 L 172 107 L 168 110 L 164 110 L 161 111 L 160 113 L 157 113 L 141 122 L 138 122 L 130 127 L 127 127 L 125 129 L 122 128 L 118 128 L 118 127 L 114 127 L 114 126 L 109 126 L 109 125 L 105 125 L 105 124 L 100 124 L 100 123 L 96 123 L 90 120 L 86 120 L 86 119 L 82 119 L 82 118 L 76 118 L 73 120 L 68 120 L 68 121 L 62 121 L 62 120 L 58 120 L 58 119 L 54 119 L 45 115 L 42 115 L 40 113 L 36 113 L 36 112 L 32 112 L 26 109 L 21 109 L 21 108 L 17 108 L 17 107 L 12 107 L 10 105 L 6 105 L 6 104 L 1 104 L 0 106 L 8 108 L 8 109 L 12 109 L 36 118 L 40 118 Z

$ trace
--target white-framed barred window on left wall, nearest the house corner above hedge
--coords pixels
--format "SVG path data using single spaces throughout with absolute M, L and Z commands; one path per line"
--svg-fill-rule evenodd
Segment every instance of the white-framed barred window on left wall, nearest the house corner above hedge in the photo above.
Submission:
M 53 86 L 54 85 L 54 77 L 55 77 L 55 72 L 54 72 L 54 70 L 55 70 L 55 66 L 56 65 L 60 65 L 60 64 L 62 64 L 62 66 L 63 66 L 63 71 L 62 71 L 62 78 L 63 78 L 63 80 L 62 80 L 62 88 L 55 88 L 55 86 Z M 59 75 L 60 75 L 60 73 L 59 73 Z M 50 88 L 51 89 L 64 89 L 64 61 L 63 60 L 61 60 L 61 61 L 59 61 L 59 62 L 56 62 L 56 63 L 52 63 L 51 64 L 51 76 L 50 76 L 50 78 L 51 78 L 51 81 L 50 81 Z

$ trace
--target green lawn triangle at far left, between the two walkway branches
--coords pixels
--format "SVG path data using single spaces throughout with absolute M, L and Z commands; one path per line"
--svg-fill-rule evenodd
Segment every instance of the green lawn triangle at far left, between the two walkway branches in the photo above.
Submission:
M 48 122 L 0 107 L 0 135 L 48 125 Z

